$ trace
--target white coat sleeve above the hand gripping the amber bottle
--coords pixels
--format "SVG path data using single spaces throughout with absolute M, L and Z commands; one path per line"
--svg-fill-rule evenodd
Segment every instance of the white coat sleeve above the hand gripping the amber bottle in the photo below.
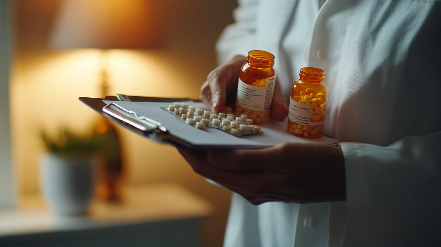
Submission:
M 255 47 L 258 0 L 239 0 L 233 11 L 235 23 L 225 27 L 216 44 L 217 61 L 223 64 L 234 55 L 247 56 Z

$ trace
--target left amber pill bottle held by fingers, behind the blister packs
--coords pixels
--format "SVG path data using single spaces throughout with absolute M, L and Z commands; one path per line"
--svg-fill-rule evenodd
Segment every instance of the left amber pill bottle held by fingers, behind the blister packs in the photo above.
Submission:
M 273 65 L 273 54 L 258 50 L 248 52 L 247 62 L 240 71 L 235 116 L 246 115 L 255 124 L 269 121 L 276 82 Z

